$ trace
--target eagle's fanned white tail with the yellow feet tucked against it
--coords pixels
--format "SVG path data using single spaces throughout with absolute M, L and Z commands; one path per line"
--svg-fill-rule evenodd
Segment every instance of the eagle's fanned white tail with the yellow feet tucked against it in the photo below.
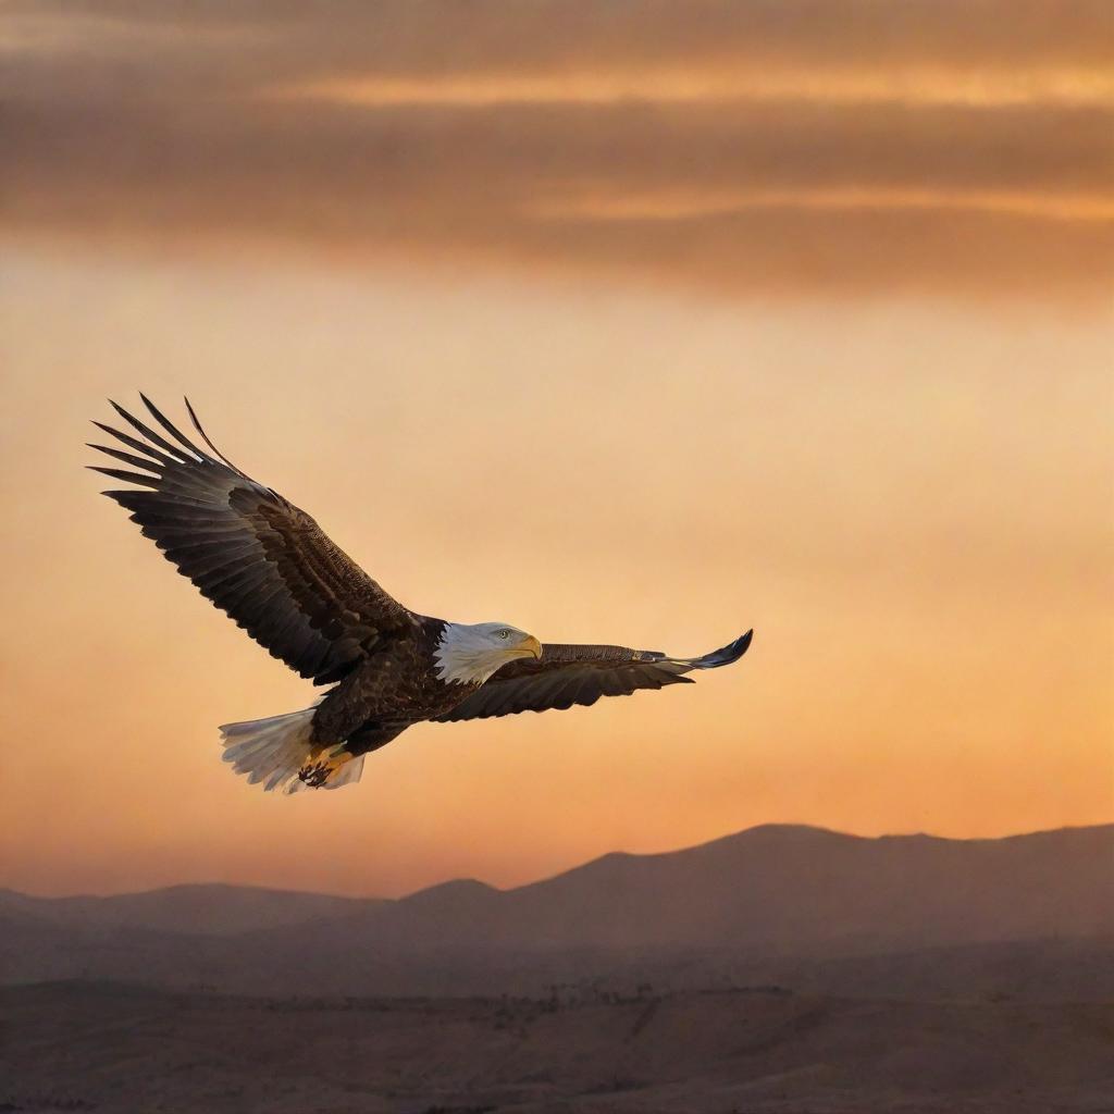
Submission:
M 363 755 L 338 745 L 314 743 L 316 707 L 272 715 L 266 720 L 226 723 L 221 727 L 224 761 L 248 783 L 263 789 L 296 793 L 303 789 L 340 789 L 363 773 Z

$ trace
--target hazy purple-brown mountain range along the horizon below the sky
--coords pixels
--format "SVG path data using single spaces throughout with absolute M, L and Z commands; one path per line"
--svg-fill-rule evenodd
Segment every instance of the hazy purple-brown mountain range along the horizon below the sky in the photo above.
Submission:
M 400 900 L 235 886 L 0 891 L 7 983 L 473 993 L 617 969 L 709 979 L 740 964 L 988 945 L 1016 955 L 1036 941 L 1047 955 L 1048 941 L 1077 951 L 1071 941 L 1112 937 L 1114 824 L 993 840 L 768 824 L 665 854 L 607 854 L 511 890 L 458 880 Z

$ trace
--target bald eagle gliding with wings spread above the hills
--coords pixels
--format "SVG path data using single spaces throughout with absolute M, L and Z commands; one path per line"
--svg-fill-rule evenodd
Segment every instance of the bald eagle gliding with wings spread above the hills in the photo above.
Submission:
M 508 623 L 450 623 L 403 607 L 304 511 L 198 448 L 140 395 L 158 432 L 115 402 L 138 434 L 94 422 L 127 450 L 90 444 L 128 468 L 89 466 L 135 485 L 105 491 L 207 599 L 272 656 L 332 687 L 311 707 L 221 727 L 224 759 L 248 782 L 287 793 L 360 780 L 364 755 L 414 723 L 457 723 L 595 704 L 691 683 L 739 661 L 751 632 L 703 657 L 547 643 Z M 139 469 L 138 471 L 133 469 Z

